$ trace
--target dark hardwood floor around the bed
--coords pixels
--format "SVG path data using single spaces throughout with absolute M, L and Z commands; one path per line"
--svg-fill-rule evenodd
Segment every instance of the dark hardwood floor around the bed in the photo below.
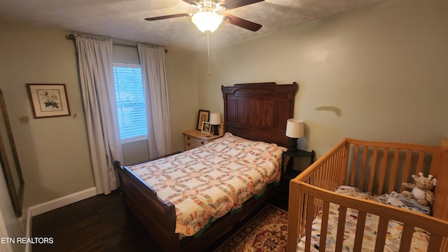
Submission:
M 271 203 L 287 210 L 286 202 L 279 198 L 274 197 Z M 207 251 L 213 251 L 230 235 Z M 161 251 L 137 218 L 127 214 L 119 190 L 34 216 L 31 236 L 53 239 L 53 244 L 32 245 L 33 252 Z

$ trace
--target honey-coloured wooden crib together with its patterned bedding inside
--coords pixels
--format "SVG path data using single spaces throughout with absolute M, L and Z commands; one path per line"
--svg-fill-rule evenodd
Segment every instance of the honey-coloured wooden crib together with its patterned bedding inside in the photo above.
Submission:
M 290 181 L 287 251 L 447 251 L 448 140 L 440 143 L 340 141 Z M 432 216 L 400 195 L 419 172 L 437 178 Z

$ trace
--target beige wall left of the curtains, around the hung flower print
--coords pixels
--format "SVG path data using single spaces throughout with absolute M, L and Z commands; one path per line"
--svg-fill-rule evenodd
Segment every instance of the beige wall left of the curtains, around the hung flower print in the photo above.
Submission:
M 94 186 L 73 41 L 66 31 L 0 22 L 0 88 L 25 179 L 24 207 Z M 66 85 L 71 116 L 33 118 L 26 83 Z

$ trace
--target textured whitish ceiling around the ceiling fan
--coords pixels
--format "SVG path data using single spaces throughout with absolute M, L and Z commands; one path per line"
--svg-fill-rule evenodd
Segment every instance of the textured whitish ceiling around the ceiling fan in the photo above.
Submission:
M 231 45 L 381 1 L 386 0 L 265 0 L 227 11 L 262 25 L 259 31 L 223 22 L 210 35 L 210 43 L 214 47 Z M 203 50 L 207 46 L 207 36 L 193 25 L 190 17 L 144 20 L 196 11 L 181 0 L 0 0 L 0 18 L 3 20 L 31 22 L 168 48 Z

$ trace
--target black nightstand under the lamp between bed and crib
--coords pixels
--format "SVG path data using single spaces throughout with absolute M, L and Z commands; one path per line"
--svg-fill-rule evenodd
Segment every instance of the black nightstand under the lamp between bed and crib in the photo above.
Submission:
M 304 169 L 309 167 L 314 162 L 314 151 L 285 151 L 281 153 L 282 174 L 281 174 L 281 198 L 288 200 L 289 197 L 289 182 L 298 176 Z M 309 163 L 302 162 L 302 158 L 309 158 Z M 294 169 L 294 160 L 300 159 L 300 169 Z M 302 164 L 304 167 L 302 167 Z

